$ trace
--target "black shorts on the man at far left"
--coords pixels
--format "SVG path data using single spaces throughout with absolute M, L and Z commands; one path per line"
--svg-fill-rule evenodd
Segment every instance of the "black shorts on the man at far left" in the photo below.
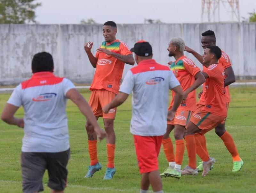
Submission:
M 22 191 L 24 193 L 44 190 L 43 176 L 48 170 L 48 186 L 62 191 L 66 187 L 70 149 L 57 153 L 21 152 Z

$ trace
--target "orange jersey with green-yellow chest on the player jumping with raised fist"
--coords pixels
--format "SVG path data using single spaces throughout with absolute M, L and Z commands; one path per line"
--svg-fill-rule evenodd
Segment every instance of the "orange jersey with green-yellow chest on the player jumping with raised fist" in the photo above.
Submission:
M 118 39 L 111 43 L 104 41 L 100 48 L 105 48 L 111 52 L 125 56 L 132 54 L 129 47 Z M 97 52 L 95 57 L 98 61 L 90 90 L 106 89 L 118 94 L 120 80 L 124 70 L 124 62 L 104 52 Z

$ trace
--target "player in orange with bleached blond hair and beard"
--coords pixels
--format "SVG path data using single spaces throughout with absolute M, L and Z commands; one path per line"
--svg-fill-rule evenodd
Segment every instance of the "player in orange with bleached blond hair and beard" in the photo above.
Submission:
M 205 81 L 200 69 L 196 67 L 193 61 L 184 56 L 184 47 L 185 42 L 183 39 L 173 38 L 171 39 L 167 49 L 169 51 L 169 56 L 173 56 L 176 60 L 175 62 L 172 62 L 171 70 L 180 82 L 181 88 L 183 89 L 185 97 L 187 98 L 186 100 L 182 101 L 182 104 L 180 104 L 174 119 L 167 122 L 167 131 L 164 134 L 162 144 L 166 159 L 169 162 L 169 167 L 162 174 L 160 174 L 161 177 L 181 177 L 180 168 L 185 150 L 185 141 L 183 139 L 186 129 L 185 126 L 187 125 L 192 113 L 196 110 L 195 89 Z M 172 92 L 172 102 L 169 110 L 172 108 L 174 96 L 175 93 Z M 175 157 L 173 153 L 172 141 L 169 137 L 169 134 L 173 128 L 176 144 Z

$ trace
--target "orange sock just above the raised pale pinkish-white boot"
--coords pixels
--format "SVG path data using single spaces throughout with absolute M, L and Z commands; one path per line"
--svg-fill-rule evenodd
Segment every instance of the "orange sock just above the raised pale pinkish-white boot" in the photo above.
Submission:
M 195 140 L 196 140 L 196 154 L 201 158 L 202 161 L 209 161 L 209 155 L 208 152 L 205 152 L 202 144 L 206 143 L 204 141 L 205 137 L 204 135 L 201 135 L 199 133 L 195 134 Z M 204 144 L 205 148 L 206 145 Z

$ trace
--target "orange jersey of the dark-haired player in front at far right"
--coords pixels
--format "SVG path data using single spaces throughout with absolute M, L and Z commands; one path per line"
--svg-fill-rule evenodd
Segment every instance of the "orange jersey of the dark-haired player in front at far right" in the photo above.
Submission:
M 205 68 L 203 72 L 209 76 L 205 81 L 205 106 L 203 110 L 220 117 L 226 117 L 227 97 L 224 87 L 225 73 L 222 65 L 220 63 L 212 64 L 208 68 Z

